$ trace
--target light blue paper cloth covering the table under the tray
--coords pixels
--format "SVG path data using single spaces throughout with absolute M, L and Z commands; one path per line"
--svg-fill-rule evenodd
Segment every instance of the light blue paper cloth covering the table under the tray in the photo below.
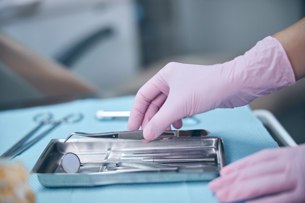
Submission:
M 95 133 L 126 130 L 127 120 L 99 121 L 95 119 L 95 112 L 130 111 L 133 99 L 134 96 L 83 99 L 57 105 L 0 111 L 0 154 L 37 126 L 33 117 L 40 112 L 50 111 L 56 119 L 71 112 L 83 113 L 84 118 L 80 122 L 58 126 L 15 158 L 31 170 L 51 139 L 66 138 L 75 131 Z M 261 149 L 278 147 L 248 106 L 216 109 L 195 115 L 194 118 L 199 121 L 197 124 L 186 124 L 182 129 L 207 129 L 211 132 L 209 136 L 222 137 L 227 164 Z M 39 183 L 36 175 L 31 175 L 29 184 L 36 195 L 37 203 L 218 203 L 205 181 L 47 188 Z

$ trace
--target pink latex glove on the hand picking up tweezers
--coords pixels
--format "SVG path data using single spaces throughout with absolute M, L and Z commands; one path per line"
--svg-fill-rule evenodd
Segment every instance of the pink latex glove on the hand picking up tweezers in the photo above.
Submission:
M 151 141 L 171 124 L 181 128 L 183 117 L 243 106 L 294 83 L 284 48 L 270 36 L 223 64 L 171 62 L 137 92 L 128 129 L 142 126 L 144 138 Z

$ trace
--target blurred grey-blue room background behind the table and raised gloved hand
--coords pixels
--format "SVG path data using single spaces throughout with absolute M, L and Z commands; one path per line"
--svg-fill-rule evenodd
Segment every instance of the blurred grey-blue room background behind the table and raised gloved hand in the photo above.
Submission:
M 168 62 L 242 55 L 304 0 L 0 0 L 0 110 L 135 94 Z M 305 81 L 255 100 L 305 142 Z

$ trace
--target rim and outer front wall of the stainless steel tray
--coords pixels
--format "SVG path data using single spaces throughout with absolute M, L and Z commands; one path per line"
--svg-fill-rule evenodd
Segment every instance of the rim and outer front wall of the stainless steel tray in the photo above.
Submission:
M 191 138 L 193 140 L 193 138 Z M 226 165 L 224 141 L 218 136 L 207 136 L 196 139 L 215 139 L 218 142 L 220 150 L 220 168 Z M 77 140 L 77 143 L 82 141 L 101 141 L 101 139 L 93 138 L 76 138 L 71 141 Z M 187 139 L 188 140 L 188 139 Z M 103 173 L 41 173 L 38 172 L 38 162 L 44 159 L 50 148 L 54 147 L 56 143 L 62 143 L 64 139 L 52 139 L 47 147 L 43 150 L 37 163 L 31 170 L 31 174 L 38 176 L 40 184 L 46 187 L 62 187 L 62 186 L 96 186 L 96 185 L 111 185 L 111 184 L 133 184 L 133 183 L 163 183 L 163 182 L 181 182 L 181 181 L 210 181 L 217 176 L 218 172 L 204 172 L 204 173 L 121 173 L 121 174 L 103 174 Z M 126 142 L 126 140 L 103 139 L 102 142 Z M 127 140 L 128 141 L 128 140 Z M 131 142 L 133 142 L 132 140 Z M 183 140 L 187 142 L 186 139 Z M 136 142 L 136 141 L 135 141 Z M 142 142 L 142 141 L 139 141 Z M 171 142 L 171 141 L 170 141 Z M 211 146 L 213 147 L 213 146 Z

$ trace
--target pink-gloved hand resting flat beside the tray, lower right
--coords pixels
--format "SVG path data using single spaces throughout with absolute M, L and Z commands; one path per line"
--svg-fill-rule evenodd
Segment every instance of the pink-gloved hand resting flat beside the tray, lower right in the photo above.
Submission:
M 210 189 L 223 203 L 305 202 L 305 145 L 264 149 L 225 166 Z

